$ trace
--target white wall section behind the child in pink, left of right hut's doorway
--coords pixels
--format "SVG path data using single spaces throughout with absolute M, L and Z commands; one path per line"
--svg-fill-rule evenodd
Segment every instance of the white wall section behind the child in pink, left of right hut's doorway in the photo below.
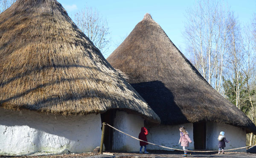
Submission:
M 189 138 L 191 139 L 192 143 L 189 143 L 189 149 L 194 149 L 194 140 L 193 140 L 193 124 L 180 124 L 176 126 L 166 126 L 166 125 L 159 125 L 153 126 L 148 128 L 148 142 L 154 143 L 157 145 L 161 145 L 164 147 L 171 147 L 175 149 L 182 149 L 179 145 L 180 140 L 180 131 L 179 127 L 184 126 L 189 133 Z M 171 150 L 162 147 L 157 147 L 151 144 L 148 144 L 147 149 L 151 150 Z

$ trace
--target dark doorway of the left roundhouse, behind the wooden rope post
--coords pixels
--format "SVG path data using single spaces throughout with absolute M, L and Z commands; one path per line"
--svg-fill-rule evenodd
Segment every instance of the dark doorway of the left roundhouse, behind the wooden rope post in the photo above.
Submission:
M 101 121 L 110 124 L 111 126 L 113 126 L 115 116 L 115 109 L 100 114 Z M 104 146 L 106 150 L 112 150 L 113 147 L 113 129 L 109 126 L 105 126 Z

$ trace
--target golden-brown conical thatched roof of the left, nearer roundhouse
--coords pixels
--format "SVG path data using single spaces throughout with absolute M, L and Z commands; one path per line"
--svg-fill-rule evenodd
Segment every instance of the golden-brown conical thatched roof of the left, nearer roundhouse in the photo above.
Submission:
M 63 115 L 121 109 L 160 122 L 56 0 L 17 0 L 0 14 L 0 106 Z

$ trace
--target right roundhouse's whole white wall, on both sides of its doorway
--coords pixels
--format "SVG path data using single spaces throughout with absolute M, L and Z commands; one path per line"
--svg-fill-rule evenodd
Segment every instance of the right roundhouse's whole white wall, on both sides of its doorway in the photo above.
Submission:
M 194 149 L 193 140 L 193 124 L 181 124 L 177 126 L 153 126 L 148 129 L 148 142 L 162 145 L 165 147 L 182 149 L 178 145 L 180 132 L 179 127 L 184 126 L 189 132 L 189 138 L 192 140 L 192 144 L 189 144 L 189 149 Z M 221 131 L 225 132 L 225 137 L 230 143 L 226 143 L 226 148 L 224 149 L 234 149 L 246 146 L 246 132 L 244 129 L 231 126 L 228 124 L 218 124 L 218 123 L 207 123 L 206 124 L 206 149 L 207 150 L 218 150 L 218 135 Z M 147 149 L 154 150 L 169 150 L 162 147 L 148 145 Z M 246 152 L 246 149 L 235 150 L 237 152 Z

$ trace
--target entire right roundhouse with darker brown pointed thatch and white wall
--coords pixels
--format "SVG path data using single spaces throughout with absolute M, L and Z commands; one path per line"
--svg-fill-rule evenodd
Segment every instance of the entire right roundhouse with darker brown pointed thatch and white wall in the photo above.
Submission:
M 150 142 L 178 147 L 180 125 L 195 149 L 218 149 L 221 131 L 231 140 L 225 149 L 244 147 L 246 133 L 256 133 L 252 121 L 207 83 L 150 14 L 107 60 L 160 117 L 161 125 L 149 128 Z

